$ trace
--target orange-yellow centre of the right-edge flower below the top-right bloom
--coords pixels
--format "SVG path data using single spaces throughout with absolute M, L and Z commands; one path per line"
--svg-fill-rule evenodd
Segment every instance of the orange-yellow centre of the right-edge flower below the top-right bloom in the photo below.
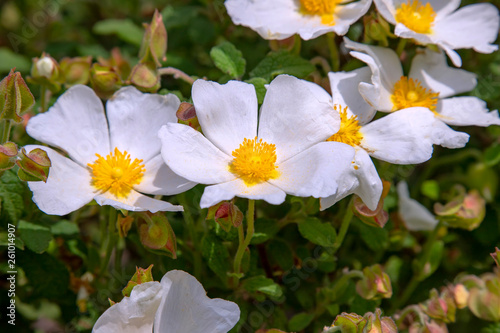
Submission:
M 436 112 L 436 104 L 439 93 L 422 87 L 418 80 L 409 79 L 402 76 L 394 85 L 394 91 L 391 95 L 393 111 L 421 106 Z

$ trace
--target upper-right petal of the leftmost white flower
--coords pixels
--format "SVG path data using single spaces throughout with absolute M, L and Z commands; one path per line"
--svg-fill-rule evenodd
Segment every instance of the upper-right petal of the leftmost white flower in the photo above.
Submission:
M 158 130 L 168 122 L 177 122 L 179 104 L 173 94 L 145 94 L 134 87 L 118 90 L 106 104 L 111 150 L 117 147 L 144 162 L 158 155 Z

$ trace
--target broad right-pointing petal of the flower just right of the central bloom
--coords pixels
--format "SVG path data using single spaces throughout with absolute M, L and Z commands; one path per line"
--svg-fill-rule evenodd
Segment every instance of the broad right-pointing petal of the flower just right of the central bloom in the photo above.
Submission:
M 415 164 L 432 156 L 434 114 L 414 107 L 391 113 L 361 128 L 361 146 L 372 156 L 395 164 Z

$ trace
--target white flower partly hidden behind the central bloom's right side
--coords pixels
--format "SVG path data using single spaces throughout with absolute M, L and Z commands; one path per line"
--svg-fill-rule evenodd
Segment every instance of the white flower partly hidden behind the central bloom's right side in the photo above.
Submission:
M 376 209 L 383 186 L 370 156 L 394 164 L 422 163 L 432 156 L 435 119 L 429 110 L 414 107 L 372 121 L 375 109 L 358 92 L 359 84 L 368 81 L 370 74 L 368 67 L 329 73 L 332 96 L 310 83 L 317 98 L 332 105 L 331 112 L 340 114 L 340 130 L 328 140 L 343 142 L 356 151 L 351 168 L 340 177 L 338 191 L 321 198 L 322 210 L 352 193 L 368 208 Z

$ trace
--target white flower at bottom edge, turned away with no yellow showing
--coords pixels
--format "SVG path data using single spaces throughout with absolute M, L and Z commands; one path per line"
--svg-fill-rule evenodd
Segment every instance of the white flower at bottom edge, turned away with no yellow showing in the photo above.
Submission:
M 233 302 L 208 298 L 192 275 L 170 271 L 161 282 L 135 286 L 130 297 L 107 309 L 93 333 L 226 333 L 238 322 Z

